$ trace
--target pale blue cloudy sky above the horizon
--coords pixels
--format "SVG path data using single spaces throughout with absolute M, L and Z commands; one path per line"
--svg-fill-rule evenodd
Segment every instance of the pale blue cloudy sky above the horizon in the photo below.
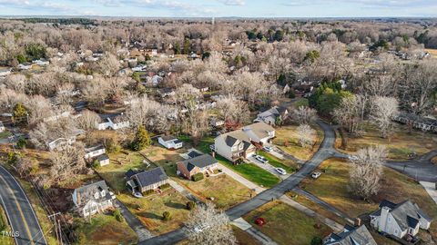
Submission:
M 437 17 L 437 0 L 0 0 L 0 15 Z

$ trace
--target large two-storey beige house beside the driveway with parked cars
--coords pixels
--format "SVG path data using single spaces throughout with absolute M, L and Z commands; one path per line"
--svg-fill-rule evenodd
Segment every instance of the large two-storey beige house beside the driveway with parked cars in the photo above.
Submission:
M 274 137 L 275 130 L 269 124 L 257 122 L 217 136 L 214 140 L 214 151 L 235 162 L 253 155 L 256 151 L 254 143 L 262 145 Z

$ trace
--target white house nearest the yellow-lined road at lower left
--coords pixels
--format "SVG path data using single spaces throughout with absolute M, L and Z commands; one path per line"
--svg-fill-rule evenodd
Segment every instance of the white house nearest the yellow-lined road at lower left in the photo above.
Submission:
M 109 191 L 105 181 L 98 181 L 77 188 L 73 191 L 72 196 L 77 211 L 83 217 L 112 208 L 113 200 L 116 199 L 116 195 Z

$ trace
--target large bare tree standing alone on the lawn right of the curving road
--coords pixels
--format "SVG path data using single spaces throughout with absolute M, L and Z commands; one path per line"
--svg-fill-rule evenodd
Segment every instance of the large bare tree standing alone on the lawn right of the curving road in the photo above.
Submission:
M 380 179 L 382 164 L 385 161 L 387 151 L 384 146 L 371 146 L 358 151 L 351 158 L 350 188 L 351 192 L 369 201 L 380 191 Z

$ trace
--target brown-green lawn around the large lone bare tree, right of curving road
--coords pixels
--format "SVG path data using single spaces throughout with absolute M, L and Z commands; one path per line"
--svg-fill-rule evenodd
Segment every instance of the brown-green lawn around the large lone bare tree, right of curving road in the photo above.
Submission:
M 410 199 L 416 202 L 433 219 L 437 218 L 437 205 L 422 188 L 422 185 L 388 168 L 384 168 L 381 191 L 371 202 L 354 198 L 348 190 L 349 168 L 350 165 L 347 162 L 330 159 L 320 165 L 320 169 L 325 169 L 326 172 L 323 172 L 319 179 L 307 178 L 302 181 L 300 187 L 330 203 L 352 218 L 377 210 L 380 201 L 383 199 L 394 202 Z M 432 236 L 437 238 L 437 222 L 432 222 L 430 231 Z

